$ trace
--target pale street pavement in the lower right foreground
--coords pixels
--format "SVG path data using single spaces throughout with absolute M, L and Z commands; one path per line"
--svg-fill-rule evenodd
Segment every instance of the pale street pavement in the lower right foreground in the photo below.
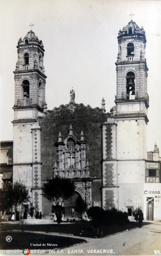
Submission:
M 55 255 L 161 255 L 161 222 L 87 241 Z

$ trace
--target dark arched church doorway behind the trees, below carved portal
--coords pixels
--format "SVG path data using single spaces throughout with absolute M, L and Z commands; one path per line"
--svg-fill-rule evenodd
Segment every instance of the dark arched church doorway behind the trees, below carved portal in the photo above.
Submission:
M 77 212 L 74 210 L 77 200 L 81 199 L 81 196 L 74 192 L 67 200 L 64 201 L 65 213 L 64 219 L 67 220 L 80 220 L 82 218 L 82 212 Z

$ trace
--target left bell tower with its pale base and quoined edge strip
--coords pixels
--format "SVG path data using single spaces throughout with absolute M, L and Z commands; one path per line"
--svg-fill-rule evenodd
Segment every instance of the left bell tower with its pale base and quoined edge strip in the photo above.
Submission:
M 13 120 L 13 182 L 30 188 L 32 203 L 41 211 L 41 155 L 38 117 L 46 113 L 43 65 L 44 46 L 30 30 L 18 41 L 18 60 L 14 73 L 15 103 Z M 39 178 L 38 178 L 39 177 Z

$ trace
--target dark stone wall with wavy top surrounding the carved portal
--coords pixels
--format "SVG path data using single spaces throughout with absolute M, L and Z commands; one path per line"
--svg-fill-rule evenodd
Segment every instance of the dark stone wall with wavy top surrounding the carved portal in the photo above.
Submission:
M 58 160 L 57 147 L 59 131 L 62 140 L 69 135 L 69 126 L 72 124 L 73 135 L 80 140 L 81 130 L 84 133 L 86 144 L 86 160 L 89 161 L 90 177 L 101 178 L 101 124 L 107 120 L 102 111 L 77 106 L 71 113 L 67 107 L 61 107 L 54 112 L 48 112 L 43 119 L 39 119 L 41 131 L 41 161 L 42 179 L 46 180 L 53 175 L 54 161 Z

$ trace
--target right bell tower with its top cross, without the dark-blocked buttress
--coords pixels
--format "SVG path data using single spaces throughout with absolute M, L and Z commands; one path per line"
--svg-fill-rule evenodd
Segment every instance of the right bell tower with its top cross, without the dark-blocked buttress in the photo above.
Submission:
M 116 64 L 117 91 L 116 113 L 116 159 L 119 208 L 124 211 L 143 209 L 143 184 L 145 160 L 147 159 L 147 64 L 145 59 L 145 31 L 132 20 L 118 34 L 118 57 Z M 125 184 L 125 185 L 123 185 Z M 124 194 L 124 188 L 129 191 Z M 121 202 L 124 198 L 124 203 Z M 129 200 L 129 201 L 128 201 Z M 121 205 L 122 204 L 122 205 Z

